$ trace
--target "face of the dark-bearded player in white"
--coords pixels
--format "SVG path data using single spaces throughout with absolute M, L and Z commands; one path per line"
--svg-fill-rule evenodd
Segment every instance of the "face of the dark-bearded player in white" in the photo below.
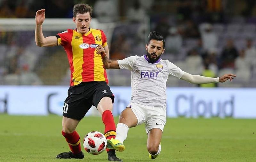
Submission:
M 156 62 L 162 53 L 164 53 L 164 43 L 163 41 L 157 41 L 151 39 L 150 42 L 146 45 L 147 58 L 150 62 Z

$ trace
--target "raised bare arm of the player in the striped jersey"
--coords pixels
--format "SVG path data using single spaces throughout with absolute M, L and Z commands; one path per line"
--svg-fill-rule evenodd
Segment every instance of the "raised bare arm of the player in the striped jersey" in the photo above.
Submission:
M 45 9 L 38 10 L 36 12 L 36 30 L 35 30 L 35 41 L 39 47 L 49 47 L 58 45 L 56 36 L 48 36 L 44 38 L 42 24 L 45 19 Z

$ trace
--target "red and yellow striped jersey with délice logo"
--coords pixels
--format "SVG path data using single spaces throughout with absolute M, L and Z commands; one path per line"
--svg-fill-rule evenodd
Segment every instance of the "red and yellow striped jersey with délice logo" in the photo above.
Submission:
M 58 45 L 62 45 L 67 53 L 71 71 L 70 86 L 88 81 L 106 81 L 106 70 L 102 57 L 96 54 L 98 44 L 105 47 L 107 37 L 102 30 L 89 28 L 86 34 L 68 29 L 56 35 Z

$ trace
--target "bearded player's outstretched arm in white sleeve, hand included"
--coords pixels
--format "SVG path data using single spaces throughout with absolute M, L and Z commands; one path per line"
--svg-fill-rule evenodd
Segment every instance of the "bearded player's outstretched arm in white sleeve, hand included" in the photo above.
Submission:
M 224 74 L 221 77 L 212 78 L 212 77 L 205 77 L 201 75 L 191 75 L 185 72 L 180 79 L 184 81 L 188 81 L 193 84 L 206 84 L 206 83 L 224 82 L 224 81 L 227 81 L 228 79 L 232 81 L 234 77 L 236 77 L 236 75 L 234 74 Z

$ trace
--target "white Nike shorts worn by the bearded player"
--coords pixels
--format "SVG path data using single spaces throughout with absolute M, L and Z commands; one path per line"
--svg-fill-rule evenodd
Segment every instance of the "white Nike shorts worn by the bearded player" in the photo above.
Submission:
M 148 134 L 149 130 L 159 128 L 164 131 L 166 124 L 166 109 L 160 106 L 147 106 L 132 103 L 129 106 L 138 119 L 137 125 L 145 123 L 145 129 Z

